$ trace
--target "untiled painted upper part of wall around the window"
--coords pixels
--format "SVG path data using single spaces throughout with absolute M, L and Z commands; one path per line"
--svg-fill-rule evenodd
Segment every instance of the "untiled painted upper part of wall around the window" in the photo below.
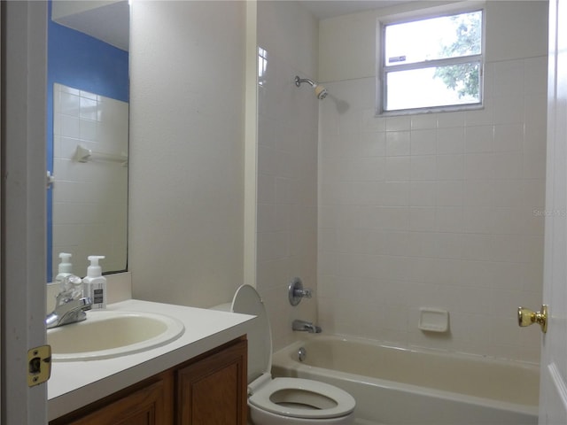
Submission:
M 450 2 L 421 1 L 430 15 L 447 11 Z M 463 2 L 463 4 L 475 2 Z M 476 2 L 478 3 L 478 2 Z M 532 58 L 548 51 L 546 1 L 486 2 L 487 61 Z M 319 25 L 319 80 L 341 81 L 376 75 L 378 19 L 416 16 L 415 4 L 324 19 Z

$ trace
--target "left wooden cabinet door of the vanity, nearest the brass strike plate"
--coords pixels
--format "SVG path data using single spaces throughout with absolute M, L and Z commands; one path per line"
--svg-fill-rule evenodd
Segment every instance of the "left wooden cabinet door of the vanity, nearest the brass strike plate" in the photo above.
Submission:
M 107 400 L 81 416 L 58 419 L 50 424 L 66 425 L 168 425 L 173 423 L 173 374 L 159 375 L 130 393 L 120 391 L 120 398 Z

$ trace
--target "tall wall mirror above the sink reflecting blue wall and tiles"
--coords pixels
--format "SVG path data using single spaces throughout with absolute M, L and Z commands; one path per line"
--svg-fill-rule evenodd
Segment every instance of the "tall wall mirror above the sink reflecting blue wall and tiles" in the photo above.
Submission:
M 53 0 L 48 16 L 47 282 L 60 252 L 80 276 L 89 255 L 125 271 L 128 1 Z

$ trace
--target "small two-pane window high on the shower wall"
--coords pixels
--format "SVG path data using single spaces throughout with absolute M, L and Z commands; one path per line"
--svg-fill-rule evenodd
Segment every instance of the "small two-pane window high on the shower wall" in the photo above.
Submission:
M 381 112 L 482 104 L 482 11 L 385 24 L 382 29 Z

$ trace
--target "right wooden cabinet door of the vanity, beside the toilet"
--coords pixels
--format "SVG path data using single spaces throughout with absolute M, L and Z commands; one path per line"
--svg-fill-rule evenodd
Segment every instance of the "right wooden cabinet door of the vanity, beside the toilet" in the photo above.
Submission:
M 246 424 L 246 340 L 177 372 L 177 425 Z

